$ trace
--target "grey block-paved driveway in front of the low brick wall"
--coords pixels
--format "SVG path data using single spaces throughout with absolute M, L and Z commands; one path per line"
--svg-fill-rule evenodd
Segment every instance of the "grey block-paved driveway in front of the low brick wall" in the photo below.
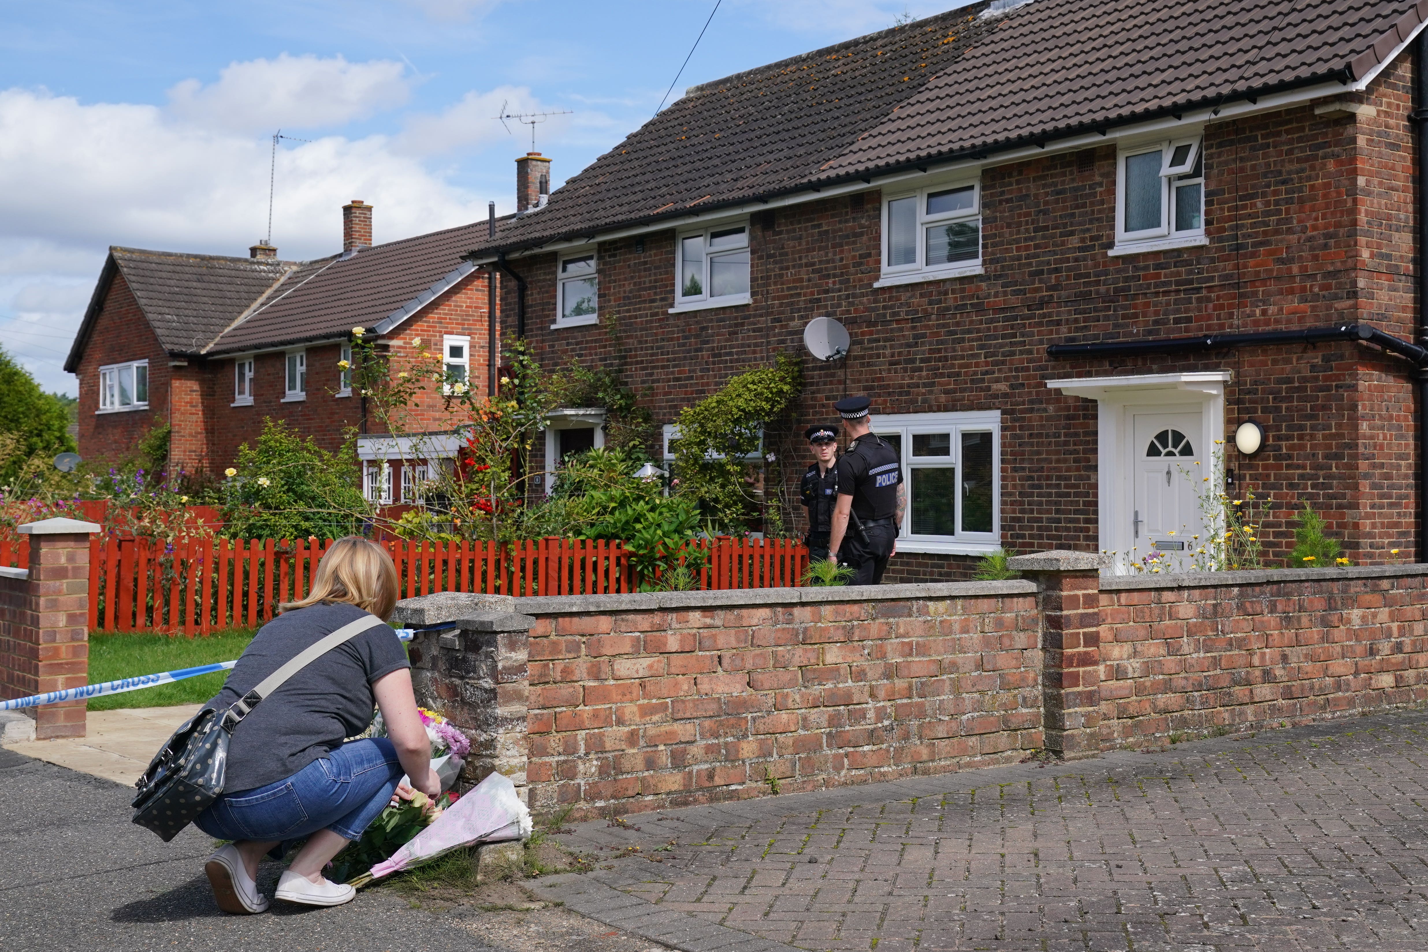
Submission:
M 633 859 L 537 889 L 691 949 L 1425 951 L 1425 744 L 1405 712 L 633 814 L 564 836 Z

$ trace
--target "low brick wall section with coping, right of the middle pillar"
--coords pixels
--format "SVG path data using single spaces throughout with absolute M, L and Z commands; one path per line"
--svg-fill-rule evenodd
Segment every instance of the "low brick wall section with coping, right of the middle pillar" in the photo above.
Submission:
M 1428 699 L 1425 567 L 1101 582 L 1101 746 Z

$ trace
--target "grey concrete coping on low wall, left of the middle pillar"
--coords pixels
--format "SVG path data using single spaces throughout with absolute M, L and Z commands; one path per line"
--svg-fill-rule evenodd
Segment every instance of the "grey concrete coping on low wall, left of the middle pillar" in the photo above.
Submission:
M 1034 595 L 1035 592 L 1035 584 L 1024 581 L 922 582 L 914 585 L 831 585 L 827 588 L 737 588 L 713 592 L 633 592 L 628 595 L 537 595 L 517 598 L 514 602 L 516 611 L 527 615 L 574 615 L 827 602 L 941 601 L 985 595 Z

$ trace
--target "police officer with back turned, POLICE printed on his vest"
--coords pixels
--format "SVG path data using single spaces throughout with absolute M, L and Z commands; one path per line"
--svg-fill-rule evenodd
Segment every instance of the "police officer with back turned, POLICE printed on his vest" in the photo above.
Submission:
M 855 572 L 853 585 L 883 581 L 907 510 L 902 464 L 897 451 L 873 432 L 870 404 L 867 397 L 845 397 L 834 404 L 853 442 L 838 460 L 838 505 L 828 558 Z

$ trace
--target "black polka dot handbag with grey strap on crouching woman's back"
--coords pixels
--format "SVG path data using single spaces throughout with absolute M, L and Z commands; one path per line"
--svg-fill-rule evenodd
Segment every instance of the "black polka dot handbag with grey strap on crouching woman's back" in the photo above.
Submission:
M 174 731 L 149 762 L 144 775 L 134 782 L 139 789 L 139 795 L 130 804 L 134 808 L 134 822 L 154 831 L 164 842 L 177 836 L 180 829 L 223 795 L 228 738 L 243 718 L 308 664 L 380 624 L 383 622 L 376 615 L 364 615 L 343 625 L 263 678 L 227 711 L 204 708 L 193 715 Z

